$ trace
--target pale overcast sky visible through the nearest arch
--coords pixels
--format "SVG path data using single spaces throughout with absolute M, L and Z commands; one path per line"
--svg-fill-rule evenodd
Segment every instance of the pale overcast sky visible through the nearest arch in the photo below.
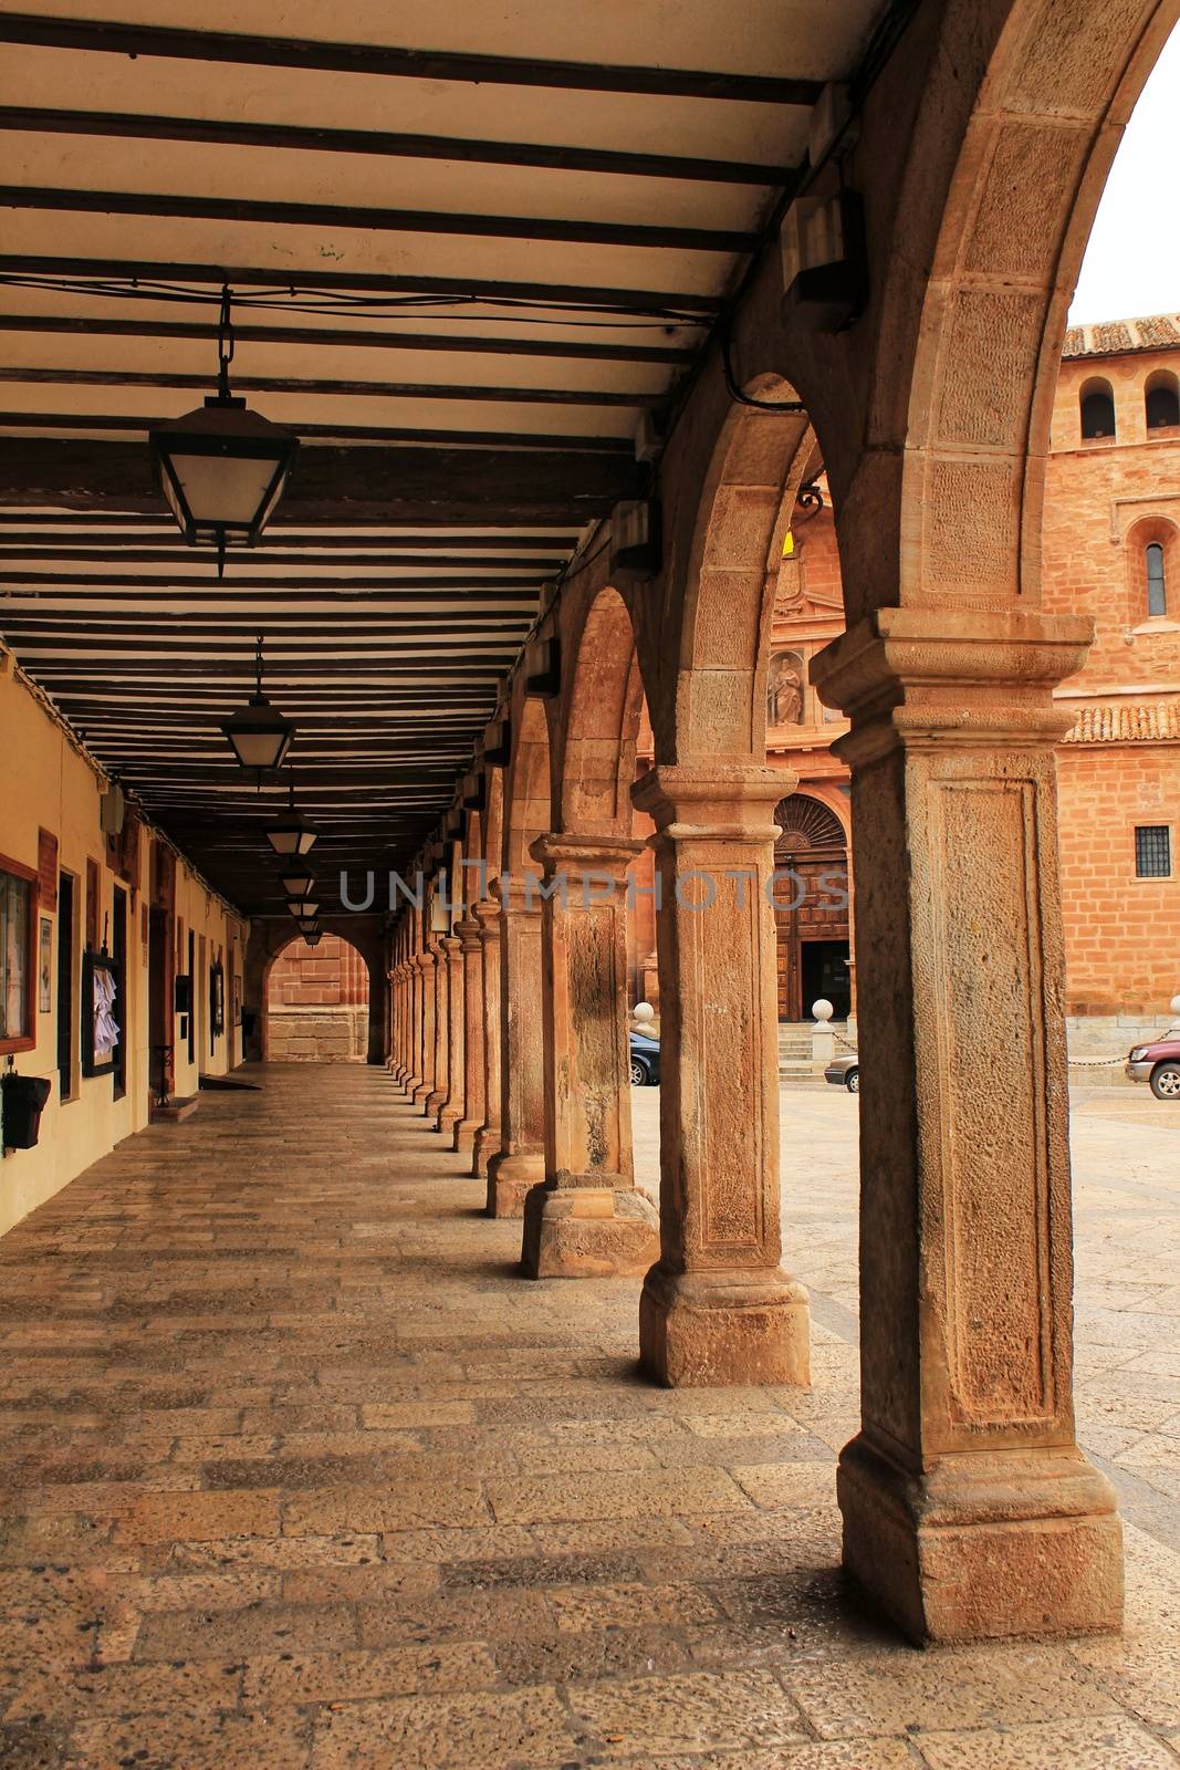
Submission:
M 1180 313 L 1180 30 L 1173 32 L 1111 168 L 1070 326 Z

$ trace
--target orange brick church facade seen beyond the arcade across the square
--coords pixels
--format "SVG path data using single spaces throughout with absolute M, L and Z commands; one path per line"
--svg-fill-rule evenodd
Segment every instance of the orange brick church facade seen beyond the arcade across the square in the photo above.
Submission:
M 1067 1007 L 1084 1023 L 1074 1032 L 1106 1046 L 1118 1021 L 1157 1027 L 1180 989 L 1180 317 L 1069 333 L 1042 545 L 1046 611 L 1090 614 L 1097 630 L 1086 667 L 1056 690 L 1076 713 L 1058 791 Z M 787 547 L 768 759 L 798 773 L 778 855 L 803 901 L 777 915 L 784 1021 L 817 995 L 842 1014 L 854 989 L 854 904 L 812 889 L 847 869 L 851 839 L 847 770 L 830 750 L 847 727 L 808 683 L 812 655 L 844 630 L 826 501 L 800 501 Z

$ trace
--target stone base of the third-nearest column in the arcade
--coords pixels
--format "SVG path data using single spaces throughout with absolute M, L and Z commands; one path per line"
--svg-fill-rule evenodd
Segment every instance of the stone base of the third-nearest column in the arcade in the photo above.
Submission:
M 557 1186 L 524 1202 L 520 1267 L 527 1278 L 621 1278 L 660 1255 L 660 1212 L 637 1186 Z

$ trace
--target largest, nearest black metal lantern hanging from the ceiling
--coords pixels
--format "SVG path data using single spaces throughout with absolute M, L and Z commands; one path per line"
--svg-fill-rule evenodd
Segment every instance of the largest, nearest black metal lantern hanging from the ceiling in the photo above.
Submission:
M 218 577 L 226 547 L 253 547 L 283 496 L 299 441 L 251 412 L 230 393 L 234 331 L 230 290 L 221 290 L 218 391 L 184 418 L 149 430 L 147 444 L 161 490 L 189 547 L 218 549 Z

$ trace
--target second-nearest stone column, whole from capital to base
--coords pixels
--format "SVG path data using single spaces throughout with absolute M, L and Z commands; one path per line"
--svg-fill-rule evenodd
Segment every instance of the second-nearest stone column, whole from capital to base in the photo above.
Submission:
M 773 809 L 782 768 L 653 768 L 660 952 L 660 1260 L 639 1343 L 667 1384 L 808 1381 L 807 1292 L 778 1266 Z

